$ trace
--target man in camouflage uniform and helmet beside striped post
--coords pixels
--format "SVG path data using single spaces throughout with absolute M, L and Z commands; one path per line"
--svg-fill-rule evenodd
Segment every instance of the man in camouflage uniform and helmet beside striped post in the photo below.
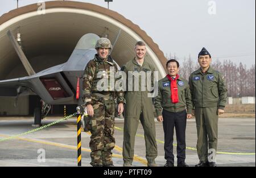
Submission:
M 117 72 L 117 65 L 114 63 L 109 51 L 112 48 L 109 39 L 101 38 L 97 41 L 97 54 L 94 59 L 86 65 L 83 82 L 83 99 L 86 110 L 90 116 L 86 127 L 92 134 L 90 136 L 90 164 L 94 167 L 114 166 L 112 161 L 112 150 L 115 146 L 114 134 L 114 113 L 117 98 L 118 113 L 123 112 L 125 98 L 122 91 L 115 91 L 110 84 L 110 73 L 113 69 Z M 112 74 L 113 75 L 113 74 Z M 117 79 L 115 78 L 114 81 Z M 104 82 L 107 88 L 102 88 Z

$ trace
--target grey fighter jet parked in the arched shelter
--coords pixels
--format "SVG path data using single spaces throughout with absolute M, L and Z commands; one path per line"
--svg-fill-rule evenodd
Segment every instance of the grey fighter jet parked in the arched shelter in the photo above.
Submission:
M 82 36 L 66 63 L 35 73 L 13 34 L 8 31 L 7 35 L 28 76 L 0 81 L 0 96 L 38 95 L 41 98 L 42 108 L 35 108 L 35 125 L 41 124 L 41 119 L 46 117 L 51 105 L 82 104 L 82 77 L 86 64 L 97 53 L 94 47 L 100 39 L 99 36 L 96 34 Z

